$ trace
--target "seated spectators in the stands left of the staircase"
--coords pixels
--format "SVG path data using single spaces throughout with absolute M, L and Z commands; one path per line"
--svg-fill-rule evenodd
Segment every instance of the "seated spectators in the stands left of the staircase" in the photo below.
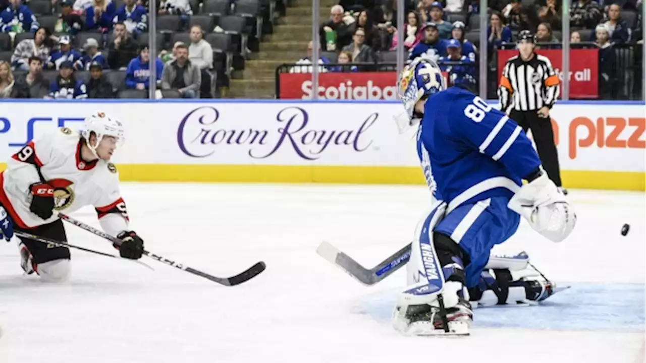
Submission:
M 242 1 L 255 1 L 260 11 L 260 1 Z M 201 12 L 209 6 L 219 12 Z M 229 16 L 234 6 L 229 0 L 158 1 L 160 54 L 154 59 L 163 97 L 213 98 L 218 75 L 230 72 L 232 52 L 245 49 L 240 38 L 246 36 L 238 32 L 235 44 L 236 32 L 217 23 L 233 17 L 228 23 L 240 25 L 242 19 L 237 30 L 247 30 L 245 17 Z M 147 97 L 148 11 L 145 0 L 0 0 L 0 97 Z

